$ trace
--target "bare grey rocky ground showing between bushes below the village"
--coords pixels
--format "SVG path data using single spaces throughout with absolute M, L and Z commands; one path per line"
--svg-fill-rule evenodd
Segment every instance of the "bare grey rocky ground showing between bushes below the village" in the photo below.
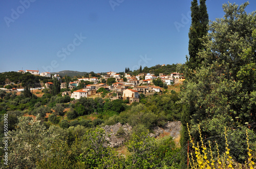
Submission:
M 121 127 L 121 129 L 120 129 L 120 127 Z M 180 135 L 181 127 L 182 127 L 182 125 L 181 125 L 180 121 L 167 122 L 162 128 L 160 128 L 158 126 L 154 127 L 154 129 L 153 129 L 154 132 L 150 133 L 150 136 L 157 137 L 160 134 L 165 133 L 167 135 L 169 134 L 170 136 L 172 136 L 175 139 L 176 137 L 178 137 Z M 117 123 L 112 126 L 107 125 L 107 126 L 103 127 L 103 129 L 105 130 L 106 134 L 108 134 L 106 139 L 109 140 L 109 143 L 110 143 L 109 146 L 110 147 L 119 147 L 125 142 L 125 139 L 127 139 L 129 134 L 131 133 L 132 126 L 130 126 L 129 124 L 122 125 L 120 123 Z M 119 133 L 119 134 L 117 134 L 117 133 Z

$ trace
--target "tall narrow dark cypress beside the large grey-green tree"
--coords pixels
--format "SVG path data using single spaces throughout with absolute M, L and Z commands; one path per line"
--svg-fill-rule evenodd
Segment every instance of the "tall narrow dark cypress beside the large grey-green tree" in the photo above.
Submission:
M 194 75 L 194 70 L 199 68 L 202 62 L 202 57 L 198 55 L 198 52 L 204 50 L 203 37 L 207 35 L 208 32 L 208 13 L 205 4 L 206 0 L 200 0 L 200 6 L 197 0 L 191 2 L 191 26 L 189 29 L 188 37 L 188 52 L 189 58 L 187 58 L 185 76 L 187 79 L 192 78 Z M 186 90 L 186 89 L 183 89 Z M 182 128 L 182 138 L 181 146 L 187 144 L 188 131 L 186 124 L 190 123 L 191 116 L 195 113 L 194 102 L 187 102 L 183 105 L 183 111 L 181 116 Z M 189 124 L 190 125 L 190 124 Z M 181 160 L 181 168 L 185 167 L 186 152 L 184 152 L 183 159 Z

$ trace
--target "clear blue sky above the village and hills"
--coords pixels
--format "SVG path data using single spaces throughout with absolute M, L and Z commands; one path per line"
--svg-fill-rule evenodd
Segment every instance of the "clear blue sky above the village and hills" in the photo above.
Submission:
M 223 17 L 227 2 L 207 0 L 209 19 Z M 248 13 L 256 7 L 249 3 Z M 1 0 L 0 72 L 120 72 L 185 63 L 190 5 L 190 0 Z

